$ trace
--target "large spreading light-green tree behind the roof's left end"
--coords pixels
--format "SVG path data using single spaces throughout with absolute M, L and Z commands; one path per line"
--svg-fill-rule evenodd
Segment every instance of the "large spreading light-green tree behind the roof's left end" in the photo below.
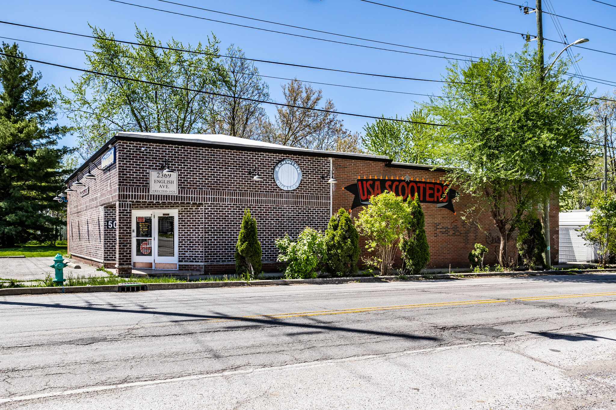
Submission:
M 92 27 L 92 35 L 97 37 L 94 53 L 86 54 L 92 71 L 197 91 L 91 73 L 71 81 L 65 90 L 55 89 L 60 106 L 78 131 L 79 154 L 84 159 L 116 132 L 208 132 L 216 100 L 198 91 L 215 91 L 228 81 L 218 61 L 216 36 L 196 47 L 172 39 L 166 44 L 172 50 L 163 50 L 156 48 L 160 41 L 139 28 L 135 37 L 140 45 L 111 41 L 113 33 L 97 27 Z

